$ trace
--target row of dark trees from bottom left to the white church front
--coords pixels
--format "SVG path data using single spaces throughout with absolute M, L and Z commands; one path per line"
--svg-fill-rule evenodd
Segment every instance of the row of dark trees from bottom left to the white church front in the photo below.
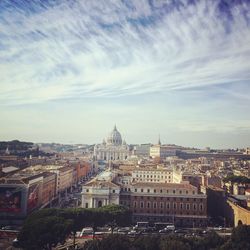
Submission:
M 95 229 L 113 221 L 119 226 L 130 225 L 131 212 L 118 205 L 96 209 L 43 209 L 26 218 L 17 238 L 18 244 L 27 250 L 50 250 L 58 243 L 64 243 L 70 234 L 75 235 L 83 227 L 91 226 Z

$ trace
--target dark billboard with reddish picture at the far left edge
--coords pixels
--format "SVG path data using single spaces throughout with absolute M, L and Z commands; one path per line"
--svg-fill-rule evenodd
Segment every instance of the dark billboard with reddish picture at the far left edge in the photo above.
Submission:
M 0 212 L 20 213 L 22 188 L 0 187 Z

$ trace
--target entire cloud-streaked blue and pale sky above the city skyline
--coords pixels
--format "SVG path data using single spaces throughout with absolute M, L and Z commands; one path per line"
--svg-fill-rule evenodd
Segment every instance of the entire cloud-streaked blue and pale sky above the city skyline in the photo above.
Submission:
M 250 146 L 248 0 L 1 0 L 0 140 Z

